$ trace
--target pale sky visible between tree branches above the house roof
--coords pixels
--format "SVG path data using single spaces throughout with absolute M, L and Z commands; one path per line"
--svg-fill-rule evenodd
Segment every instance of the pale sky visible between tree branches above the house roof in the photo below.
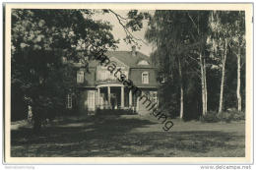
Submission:
M 124 18 L 127 18 L 127 14 L 129 12 L 129 10 L 112 10 L 114 11 L 116 14 L 124 17 Z M 140 11 L 139 11 L 140 12 Z M 154 12 L 151 11 L 150 12 L 151 14 Z M 119 40 L 119 44 L 118 45 L 118 48 L 116 49 L 116 51 L 130 51 L 131 50 L 131 44 L 127 44 L 123 38 L 126 37 L 126 34 L 125 34 L 125 31 L 124 29 L 122 28 L 122 26 L 119 24 L 118 20 L 116 19 L 116 17 L 114 16 L 114 14 L 112 13 L 108 13 L 108 14 L 96 14 L 93 19 L 95 20 L 101 20 L 101 21 L 104 21 L 104 22 L 109 22 L 110 25 L 113 26 L 113 29 L 112 29 L 112 34 L 114 36 L 115 39 L 120 39 Z M 144 21 L 143 22 L 143 28 L 140 30 L 140 31 L 134 31 L 132 32 L 133 35 L 137 38 L 140 38 L 140 39 L 143 39 L 145 42 L 146 39 L 144 38 L 145 36 L 145 32 L 148 28 L 148 24 L 147 24 L 147 21 Z M 140 49 L 138 48 L 137 46 L 137 51 L 140 51 L 148 56 L 150 56 L 152 50 L 153 50 L 153 46 L 151 44 L 149 44 L 147 42 L 147 44 L 145 44 L 144 42 L 142 41 L 138 41 L 139 45 L 140 45 Z

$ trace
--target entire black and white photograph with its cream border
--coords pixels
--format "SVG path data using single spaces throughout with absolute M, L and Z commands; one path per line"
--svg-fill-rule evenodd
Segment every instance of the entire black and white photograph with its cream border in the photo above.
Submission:
M 6 4 L 7 162 L 251 160 L 251 4 L 76 5 Z

